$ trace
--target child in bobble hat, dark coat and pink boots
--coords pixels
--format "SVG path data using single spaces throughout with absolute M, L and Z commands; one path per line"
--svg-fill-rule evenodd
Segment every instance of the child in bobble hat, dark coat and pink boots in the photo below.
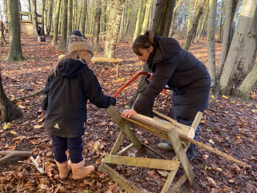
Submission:
M 82 157 L 81 136 L 86 128 L 87 100 L 99 108 L 107 108 L 115 105 L 116 99 L 103 94 L 96 75 L 88 68 L 94 50 L 79 30 L 72 31 L 67 51 L 54 65 L 45 85 L 44 127 L 52 136 L 60 179 L 65 179 L 70 170 L 73 179 L 82 179 L 95 170 L 93 165 L 84 167 Z M 65 154 L 68 148 L 70 161 Z

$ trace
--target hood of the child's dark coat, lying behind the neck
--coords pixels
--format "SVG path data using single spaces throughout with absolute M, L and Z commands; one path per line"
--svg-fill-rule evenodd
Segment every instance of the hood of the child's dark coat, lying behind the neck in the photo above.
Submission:
M 72 78 L 80 75 L 87 69 L 88 66 L 84 61 L 67 58 L 58 64 L 56 73 L 66 78 Z

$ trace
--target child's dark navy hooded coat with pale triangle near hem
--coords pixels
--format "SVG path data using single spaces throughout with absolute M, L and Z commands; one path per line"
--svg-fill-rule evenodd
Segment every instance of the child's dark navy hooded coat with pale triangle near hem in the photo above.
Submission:
M 116 104 L 103 94 L 94 72 L 81 60 L 67 58 L 50 73 L 43 93 L 44 127 L 51 135 L 73 138 L 85 133 L 87 100 L 99 108 Z

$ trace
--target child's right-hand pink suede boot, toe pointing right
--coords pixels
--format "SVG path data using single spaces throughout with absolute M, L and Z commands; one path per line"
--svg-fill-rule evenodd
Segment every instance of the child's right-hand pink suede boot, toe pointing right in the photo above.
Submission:
M 85 178 L 88 174 L 95 170 L 93 165 L 85 167 L 85 159 L 79 163 L 71 163 L 72 178 L 79 180 Z

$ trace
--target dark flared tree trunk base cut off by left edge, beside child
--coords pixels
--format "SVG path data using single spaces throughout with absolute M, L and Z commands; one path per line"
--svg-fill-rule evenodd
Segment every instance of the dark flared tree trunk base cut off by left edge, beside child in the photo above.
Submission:
M 11 4 L 11 5 L 9 5 L 9 4 Z M 19 15 L 18 15 L 18 13 L 19 13 L 18 2 L 13 3 L 11 0 L 9 0 L 8 1 L 8 10 L 9 10 L 9 6 L 13 7 L 13 4 L 17 5 L 17 10 L 16 11 L 18 11 L 18 12 L 16 12 L 16 15 L 19 18 Z M 12 23 L 12 19 L 11 18 L 10 18 L 10 23 Z M 10 25 L 12 25 L 12 24 L 10 24 Z M 23 116 L 22 111 L 20 109 L 18 109 L 16 106 L 14 106 L 14 104 L 11 101 L 9 101 L 9 99 L 6 97 L 6 94 L 5 94 L 4 88 L 3 88 L 3 83 L 2 83 L 1 69 L 0 69 L 0 89 L 1 89 L 1 93 L 0 93 L 0 110 L 1 110 L 1 114 L 2 114 L 2 122 L 13 121 L 13 120 Z

